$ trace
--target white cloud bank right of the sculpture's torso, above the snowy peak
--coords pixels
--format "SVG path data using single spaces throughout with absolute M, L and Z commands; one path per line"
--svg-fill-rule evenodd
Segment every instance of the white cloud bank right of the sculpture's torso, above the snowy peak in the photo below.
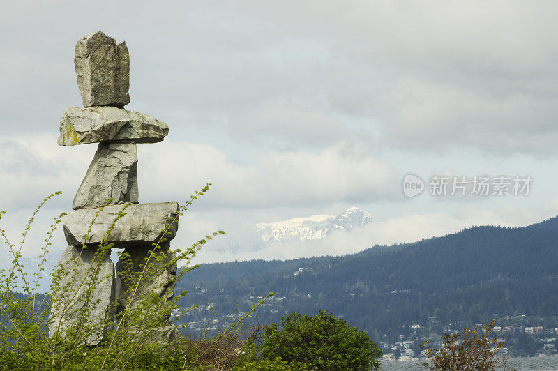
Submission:
M 141 146 L 139 156 L 140 195 L 150 202 L 160 195 L 183 199 L 205 182 L 213 188 L 204 202 L 236 208 L 384 199 L 399 185 L 389 165 L 347 144 L 319 153 L 265 153 L 250 165 L 187 142 Z

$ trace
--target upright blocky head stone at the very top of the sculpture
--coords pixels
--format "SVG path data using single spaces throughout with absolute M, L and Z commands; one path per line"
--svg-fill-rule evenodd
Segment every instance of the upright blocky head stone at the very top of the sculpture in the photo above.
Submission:
M 84 107 L 130 103 L 130 55 L 126 43 L 116 45 L 103 32 L 91 33 L 75 45 L 75 73 Z

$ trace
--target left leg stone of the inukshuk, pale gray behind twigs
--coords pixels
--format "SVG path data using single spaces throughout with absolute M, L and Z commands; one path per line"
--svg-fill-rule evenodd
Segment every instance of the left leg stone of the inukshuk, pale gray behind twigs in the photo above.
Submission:
M 86 345 L 96 345 L 103 340 L 114 318 L 116 280 L 110 252 L 103 259 L 94 259 L 96 251 L 96 248 L 68 246 L 60 258 L 63 275 L 56 285 L 58 289 L 52 293 L 48 326 L 51 337 L 56 332 L 64 336 L 73 326 L 82 329 L 91 326 L 95 330 L 86 335 Z M 96 285 L 88 298 L 86 292 L 91 282 Z

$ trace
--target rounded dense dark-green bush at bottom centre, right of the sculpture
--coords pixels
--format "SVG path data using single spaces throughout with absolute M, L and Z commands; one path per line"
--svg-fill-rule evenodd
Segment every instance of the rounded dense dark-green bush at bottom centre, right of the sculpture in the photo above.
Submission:
M 261 358 L 306 365 L 317 370 L 372 370 L 379 368 L 382 351 L 368 334 L 349 326 L 331 312 L 310 317 L 293 313 L 268 326 L 257 347 Z

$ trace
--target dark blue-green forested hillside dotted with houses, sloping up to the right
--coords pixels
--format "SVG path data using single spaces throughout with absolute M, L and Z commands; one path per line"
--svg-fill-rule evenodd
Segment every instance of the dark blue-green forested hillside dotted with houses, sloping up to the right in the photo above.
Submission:
M 275 298 L 258 309 L 261 323 L 327 309 L 375 338 L 395 338 L 405 333 L 402 326 L 428 321 L 552 317 L 558 315 L 558 218 L 522 228 L 473 227 L 343 257 L 203 264 L 180 285 L 190 291 L 183 305 L 201 307 L 186 317 L 194 323 L 213 319 L 209 303 L 217 317 L 233 317 L 268 292 Z

